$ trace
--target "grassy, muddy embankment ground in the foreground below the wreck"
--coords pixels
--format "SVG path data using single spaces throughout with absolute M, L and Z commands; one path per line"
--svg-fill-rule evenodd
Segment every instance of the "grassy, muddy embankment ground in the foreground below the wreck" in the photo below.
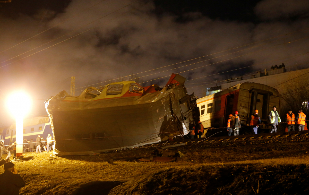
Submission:
M 171 163 L 136 162 L 155 147 L 91 156 L 44 152 L 25 154 L 35 159 L 15 166 L 27 195 L 308 194 L 308 146 L 309 136 L 188 143 L 169 149 L 185 154 Z

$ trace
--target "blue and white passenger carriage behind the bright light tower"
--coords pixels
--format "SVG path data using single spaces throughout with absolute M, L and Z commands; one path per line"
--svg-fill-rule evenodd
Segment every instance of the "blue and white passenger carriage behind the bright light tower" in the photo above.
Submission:
M 23 139 L 33 139 L 33 142 L 36 142 L 38 135 L 46 140 L 48 134 L 53 134 L 48 116 L 29 118 L 23 121 Z M 2 139 L 5 140 L 5 144 L 12 144 L 16 141 L 15 124 L 3 128 Z

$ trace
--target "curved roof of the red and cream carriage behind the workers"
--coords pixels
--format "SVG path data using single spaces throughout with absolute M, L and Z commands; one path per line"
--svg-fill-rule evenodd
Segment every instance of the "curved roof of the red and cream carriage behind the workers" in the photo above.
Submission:
M 244 90 L 252 90 L 252 89 L 260 89 L 263 91 L 270 91 L 273 93 L 273 95 L 278 96 L 279 92 L 277 91 L 277 89 L 270 87 L 268 85 L 264 85 L 264 84 L 260 84 L 260 83 L 252 83 L 252 82 L 245 82 L 245 83 L 239 83 L 237 85 L 234 85 L 232 87 L 229 87 L 227 89 L 224 89 L 218 93 L 214 93 L 205 97 L 201 97 L 199 99 L 197 99 L 197 104 L 200 103 L 201 101 L 205 101 L 205 100 L 210 100 L 210 99 L 214 99 L 218 96 L 224 95 L 226 93 L 230 93 L 232 91 L 236 91 L 238 89 L 244 89 Z

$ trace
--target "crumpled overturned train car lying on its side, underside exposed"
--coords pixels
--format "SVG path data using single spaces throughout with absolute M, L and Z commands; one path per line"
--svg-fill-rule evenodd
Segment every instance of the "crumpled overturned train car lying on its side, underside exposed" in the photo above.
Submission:
M 93 154 L 187 134 L 195 124 L 196 104 L 184 81 L 172 74 L 163 88 L 123 81 L 88 87 L 78 97 L 61 91 L 45 102 L 56 140 L 54 153 Z

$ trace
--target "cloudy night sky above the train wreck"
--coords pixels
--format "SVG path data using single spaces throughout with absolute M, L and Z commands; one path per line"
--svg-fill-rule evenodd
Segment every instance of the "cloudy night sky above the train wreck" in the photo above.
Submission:
M 187 80 L 212 75 L 186 82 L 188 93 L 201 94 L 205 82 L 274 64 L 307 67 L 309 55 L 308 0 L 12 0 L 0 3 L 0 26 L 2 125 L 11 121 L 3 101 L 10 91 L 25 90 L 35 99 L 28 117 L 46 115 L 44 100 L 69 91 L 71 76 L 80 91 L 134 74 L 144 76 L 137 80 L 144 86 L 162 86 L 183 71 Z

